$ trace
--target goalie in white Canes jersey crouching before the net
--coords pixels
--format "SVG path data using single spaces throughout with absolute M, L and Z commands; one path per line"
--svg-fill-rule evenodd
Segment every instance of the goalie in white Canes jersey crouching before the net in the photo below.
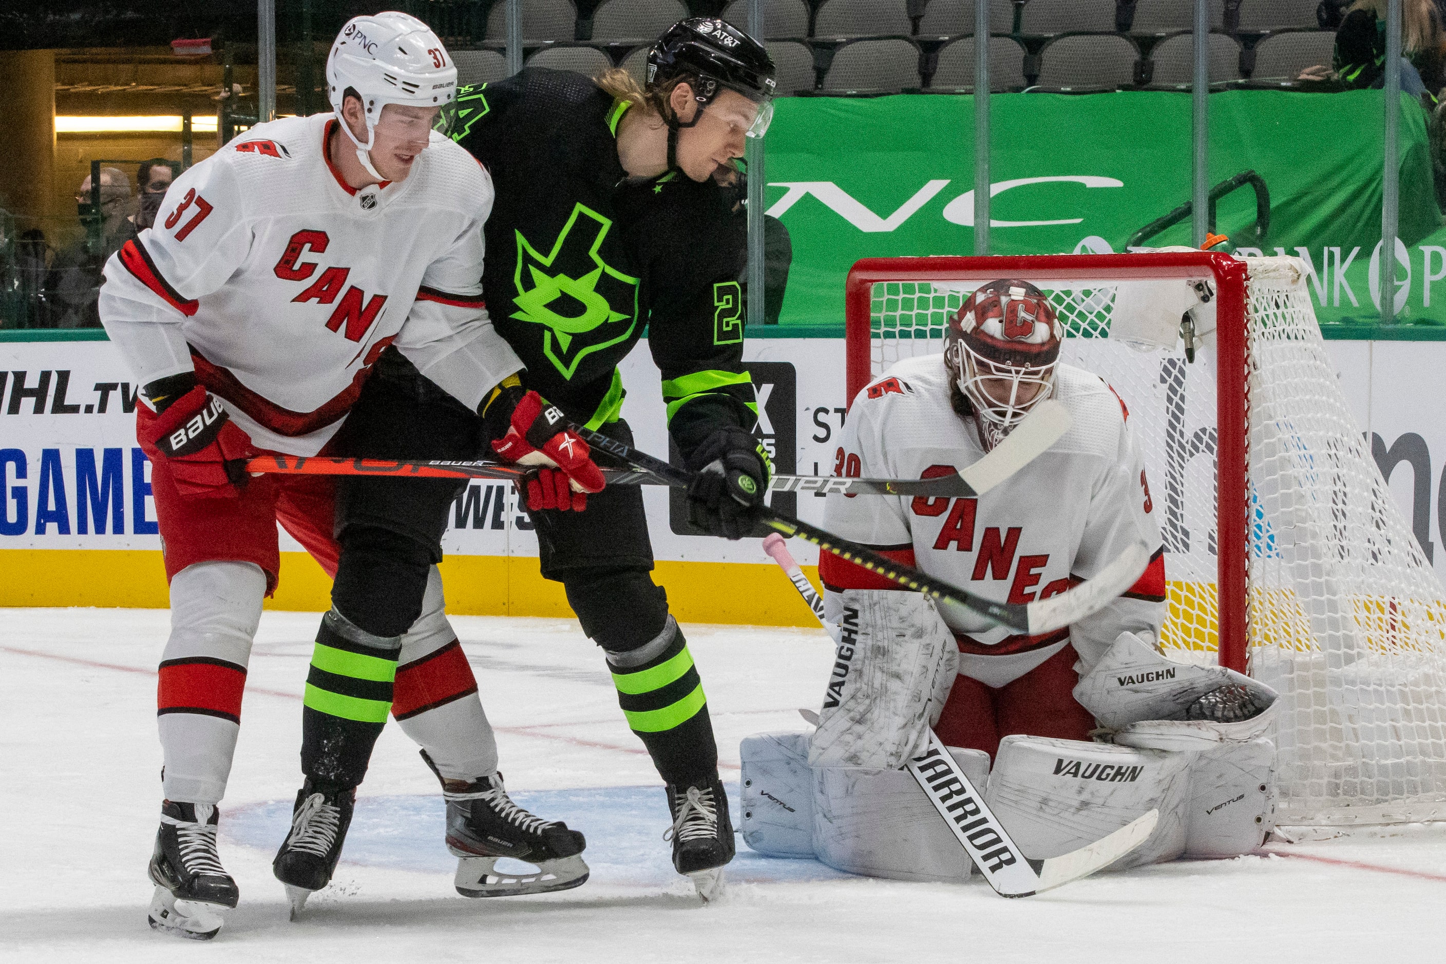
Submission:
M 1124 399 L 1060 363 L 1063 328 L 1024 280 L 976 289 L 943 356 L 894 366 L 855 400 L 849 475 L 928 478 L 988 455 L 1054 399 L 1069 429 L 977 497 L 829 496 L 827 528 L 998 601 L 1087 581 L 1145 543 L 1148 568 L 1066 629 L 1014 634 L 824 555 L 839 640 L 817 730 L 743 741 L 743 837 L 842 870 L 962 880 L 970 861 L 902 769 L 933 727 L 1031 858 L 1074 851 L 1150 809 L 1154 832 L 1115 866 L 1222 857 L 1271 825 L 1275 694 L 1158 650 L 1165 569 L 1144 457 Z

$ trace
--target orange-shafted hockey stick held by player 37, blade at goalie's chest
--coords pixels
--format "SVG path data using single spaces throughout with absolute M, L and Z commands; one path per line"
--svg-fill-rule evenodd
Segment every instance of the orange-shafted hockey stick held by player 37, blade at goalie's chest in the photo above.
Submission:
M 1053 445 L 1070 428 L 1070 413 L 1053 399 L 1041 402 L 1009 436 L 988 455 L 953 475 L 936 478 L 842 478 L 837 475 L 774 475 L 769 491 L 842 493 L 846 496 L 924 496 L 950 499 L 980 496 L 1012 475 L 1021 465 Z M 249 473 L 286 475 L 411 475 L 418 478 L 515 480 L 531 468 L 492 461 L 406 461 L 335 458 L 325 455 L 260 455 L 246 464 Z M 604 468 L 609 486 L 674 486 L 648 471 Z

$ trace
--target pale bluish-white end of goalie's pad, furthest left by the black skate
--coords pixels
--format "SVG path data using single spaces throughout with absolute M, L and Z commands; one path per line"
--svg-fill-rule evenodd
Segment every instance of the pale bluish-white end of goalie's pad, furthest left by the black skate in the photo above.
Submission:
M 743 737 L 743 843 L 769 857 L 813 857 L 813 770 L 807 733 Z

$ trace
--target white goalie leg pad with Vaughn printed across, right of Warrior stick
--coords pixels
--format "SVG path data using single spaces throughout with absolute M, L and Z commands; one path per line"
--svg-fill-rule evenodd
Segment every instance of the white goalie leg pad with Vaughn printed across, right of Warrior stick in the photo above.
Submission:
M 1192 754 L 1105 743 L 1008 736 L 985 802 L 1027 857 L 1058 857 L 1151 809 L 1150 837 L 1112 869 L 1174 860 L 1186 848 Z

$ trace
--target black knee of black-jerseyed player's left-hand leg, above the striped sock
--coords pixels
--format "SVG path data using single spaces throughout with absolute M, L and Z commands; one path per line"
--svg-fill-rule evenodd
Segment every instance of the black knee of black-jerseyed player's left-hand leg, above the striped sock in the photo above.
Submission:
M 372 636 L 402 636 L 422 614 L 432 571 L 431 548 L 395 529 L 350 525 L 331 604 Z

